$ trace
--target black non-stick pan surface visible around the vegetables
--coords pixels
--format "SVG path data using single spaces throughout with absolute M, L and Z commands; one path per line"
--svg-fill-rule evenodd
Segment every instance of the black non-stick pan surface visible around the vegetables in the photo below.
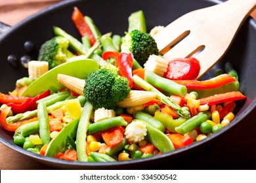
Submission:
M 155 25 L 167 25 L 186 12 L 215 5 L 220 1 L 203 0 L 127 0 L 127 1 L 64 1 L 47 8 L 12 27 L 0 39 L 1 79 L 0 91 L 14 89 L 18 78 L 27 76 L 27 70 L 21 65 L 16 69 L 7 62 L 7 57 L 14 54 L 20 58 L 26 54 L 24 42 L 32 41 L 38 48 L 47 39 L 53 37 L 53 25 L 61 27 L 79 38 L 70 16 L 73 7 L 78 7 L 83 14 L 93 18 L 102 33 L 112 31 L 123 35 L 127 31 L 127 17 L 131 12 L 143 10 L 148 30 Z M 31 156 L 56 169 L 255 169 L 255 58 L 256 58 L 256 21 L 247 20 L 240 29 L 230 50 L 217 67 L 225 61 L 233 63 L 240 76 L 240 90 L 247 99 L 238 103 L 236 119 L 207 139 L 191 146 L 154 156 L 147 159 L 117 163 L 82 163 L 37 156 L 12 142 L 12 133 L 0 129 L 0 140 L 10 148 Z M 32 56 L 36 58 L 36 54 Z M 209 77 L 205 76 L 205 78 Z M 163 165 L 166 165 L 163 167 Z

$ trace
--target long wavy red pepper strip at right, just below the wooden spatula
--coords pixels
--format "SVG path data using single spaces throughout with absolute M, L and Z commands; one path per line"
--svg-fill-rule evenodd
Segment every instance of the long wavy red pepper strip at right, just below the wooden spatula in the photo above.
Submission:
M 173 80 L 174 82 L 177 82 L 178 84 L 182 84 L 186 86 L 187 89 L 209 89 L 209 88 L 217 88 L 219 86 L 223 86 L 224 84 L 228 84 L 230 82 L 236 81 L 235 78 L 233 78 L 230 75 L 223 74 L 216 76 L 214 78 L 211 78 L 209 80 Z

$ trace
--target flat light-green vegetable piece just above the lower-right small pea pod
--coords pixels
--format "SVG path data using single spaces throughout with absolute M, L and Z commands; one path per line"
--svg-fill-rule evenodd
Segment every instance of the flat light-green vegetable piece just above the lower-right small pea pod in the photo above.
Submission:
M 175 127 L 183 124 L 184 122 L 186 122 L 186 120 L 188 120 L 182 116 L 177 119 L 173 119 L 173 116 L 160 111 L 155 113 L 154 118 L 160 121 L 166 129 L 173 133 L 177 133 L 177 131 L 175 131 Z

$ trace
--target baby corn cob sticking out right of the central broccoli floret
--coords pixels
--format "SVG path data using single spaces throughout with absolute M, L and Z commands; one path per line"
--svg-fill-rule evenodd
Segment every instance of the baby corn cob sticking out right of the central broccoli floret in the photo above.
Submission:
M 144 90 L 131 90 L 129 95 L 123 99 L 123 101 L 117 102 L 116 105 L 123 108 L 138 106 L 152 101 L 152 99 L 155 99 L 156 96 L 157 93 L 154 92 L 148 92 Z

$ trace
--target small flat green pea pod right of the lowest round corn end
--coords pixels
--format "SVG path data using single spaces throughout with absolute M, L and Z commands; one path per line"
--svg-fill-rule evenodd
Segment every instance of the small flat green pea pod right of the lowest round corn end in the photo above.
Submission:
M 138 120 L 135 120 L 138 121 Z M 139 120 L 140 122 L 143 122 L 146 124 L 146 141 L 152 143 L 160 152 L 170 152 L 172 150 L 175 150 L 173 146 L 173 142 L 159 129 L 156 129 L 156 127 L 146 123 L 143 120 Z

